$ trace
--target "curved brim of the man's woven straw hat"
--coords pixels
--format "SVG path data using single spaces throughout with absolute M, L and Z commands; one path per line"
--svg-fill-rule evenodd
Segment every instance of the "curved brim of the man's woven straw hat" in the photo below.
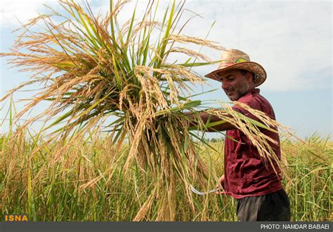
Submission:
M 228 71 L 230 69 L 243 69 L 251 71 L 252 73 L 256 74 L 256 79 L 254 79 L 255 86 L 260 86 L 264 81 L 266 81 L 267 78 L 265 69 L 263 69 L 263 67 L 260 64 L 252 61 L 240 62 L 237 64 L 230 65 L 228 67 L 219 68 L 214 71 L 211 71 L 209 74 L 205 76 L 215 81 L 221 81 L 218 78 L 219 77 L 218 74 L 221 74 L 224 71 Z

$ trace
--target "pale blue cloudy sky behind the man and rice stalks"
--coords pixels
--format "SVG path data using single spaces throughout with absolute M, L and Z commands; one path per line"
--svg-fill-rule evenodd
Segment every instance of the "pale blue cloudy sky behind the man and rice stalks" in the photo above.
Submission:
M 93 10 L 105 13 L 109 1 L 89 1 Z M 145 8 L 146 1 L 138 1 Z M 169 1 L 160 1 L 161 8 Z M 60 9 L 56 1 L 2 0 L 0 2 L 1 52 L 8 52 L 17 33 L 13 29 L 21 22 L 45 12 L 43 4 Z M 133 4 L 132 4 L 133 5 Z M 131 4 L 124 8 L 130 11 Z M 268 79 L 260 86 L 261 93 L 275 109 L 280 123 L 297 131 L 300 137 L 314 132 L 332 133 L 332 1 L 186 1 L 186 16 L 194 18 L 185 34 L 204 37 L 215 22 L 207 39 L 226 48 L 237 48 L 266 69 Z M 128 15 L 124 15 L 128 16 Z M 211 60 L 220 54 L 202 50 Z M 27 81 L 28 74 L 10 69 L 1 57 L 1 95 Z M 216 65 L 197 71 L 204 75 Z M 220 83 L 208 81 L 209 88 L 221 88 Z M 197 88 L 197 92 L 202 90 Z M 27 92 L 15 99 L 27 98 Z M 203 100 L 228 101 L 222 90 L 205 95 Z M 1 104 L 3 105 L 3 104 Z M 20 109 L 21 104 L 17 104 Z M 45 105 L 37 107 L 37 111 Z M 4 110 L 0 118 L 4 118 Z M 6 130 L 5 128 L 1 128 Z

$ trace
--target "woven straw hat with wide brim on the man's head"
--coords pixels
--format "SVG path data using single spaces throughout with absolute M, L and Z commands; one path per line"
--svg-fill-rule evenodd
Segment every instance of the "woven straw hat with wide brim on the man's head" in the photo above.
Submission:
M 221 74 L 221 72 L 230 69 L 244 69 L 254 73 L 255 86 L 260 86 L 266 80 L 265 69 L 260 64 L 250 61 L 249 55 L 243 53 L 241 50 L 226 50 L 222 53 L 221 60 L 220 64 L 218 64 L 218 69 L 211 71 L 206 77 L 220 81 L 218 74 Z

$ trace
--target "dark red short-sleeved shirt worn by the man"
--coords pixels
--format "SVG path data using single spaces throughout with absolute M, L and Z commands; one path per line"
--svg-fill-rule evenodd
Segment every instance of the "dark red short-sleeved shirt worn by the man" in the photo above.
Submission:
M 259 94 L 259 89 L 254 89 L 240 97 L 237 102 L 247 104 L 253 109 L 263 111 L 271 118 L 275 119 L 273 108 L 268 100 Z M 233 109 L 242 112 L 245 116 L 258 120 L 249 111 L 234 106 Z M 278 142 L 278 145 L 270 143 L 276 156 L 280 159 L 280 139 L 277 133 L 262 129 L 261 132 L 273 138 Z M 273 167 L 268 164 L 266 168 L 258 150 L 249 141 L 246 135 L 240 130 L 228 130 L 228 137 L 235 139 L 225 140 L 225 191 L 233 198 L 244 198 L 247 196 L 261 196 L 263 194 L 272 193 L 282 189 L 281 175 L 278 170 L 276 175 Z M 275 165 L 275 167 L 277 167 Z

